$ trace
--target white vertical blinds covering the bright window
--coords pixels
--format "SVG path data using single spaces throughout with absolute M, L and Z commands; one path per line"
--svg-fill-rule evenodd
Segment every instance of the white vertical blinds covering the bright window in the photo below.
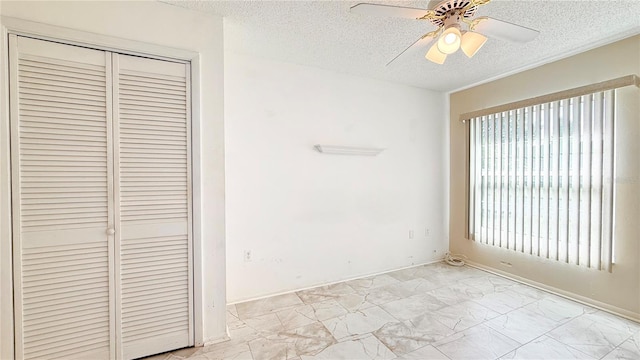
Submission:
M 469 123 L 469 238 L 611 271 L 615 90 Z

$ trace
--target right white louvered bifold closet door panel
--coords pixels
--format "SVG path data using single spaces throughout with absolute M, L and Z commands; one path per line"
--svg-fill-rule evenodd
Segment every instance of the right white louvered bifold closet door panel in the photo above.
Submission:
M 190 70 L 113 55 L 116 268 L 124 358 L 193 345 Z

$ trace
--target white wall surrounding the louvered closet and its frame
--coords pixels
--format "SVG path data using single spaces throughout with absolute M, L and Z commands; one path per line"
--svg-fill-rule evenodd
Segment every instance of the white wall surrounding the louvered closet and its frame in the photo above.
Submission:
M 202 224 L 200 234 L 204 279 L 196 313 L 196 342 L 226 335 L 225 248 L 224 248 L 224 126 L 223 126 L 223 38 L 222 18 L 148 1 L 2 1 L 0 15 L 104 35 L 94 38 L 104 43 L 123 44 L 116 48 L 140 50 L 143 42 L 199 53 L 199 129 L 194 131 L 194 170 L 199 172 L 201 190 L 194 203 L 194 215 Z M 5 26 L 6 23 L 0 23 Z M 45 27 L 46 28 L 46 27 Z M 73 30 L 58 31 L 74 37 Z M 0 40 L 0 358 L 13 358 L 11 284 L 11 232 L 9 185 L 9 124 L 7 116 L 6 28 Z M 124 40 L 120 40 L 124 39 Z M 133 40 L 134 42 L 128 41 Z M 122 46 L 122 47 L 120 47 Z M 146 47 L 151 52 L 154 46 Z M 144 51 L 144 50 L 143 50 Z M 198 65 L 198 64 L 195 64 Z M 198 90 L 198 89 L 196 89 Z M 197 151 L 200 148 L 200 151 Z M 203 156 L 199 158 L 199 153 Z M 199 165 L 199 166 L 198 166 Z M 196 219 L 197 220 L 197 219 Z

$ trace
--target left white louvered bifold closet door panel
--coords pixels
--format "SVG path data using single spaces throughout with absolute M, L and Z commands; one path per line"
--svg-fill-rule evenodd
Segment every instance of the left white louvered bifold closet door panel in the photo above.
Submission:
M 16 358 L 112 358 L 111 55 L 10 45 Z

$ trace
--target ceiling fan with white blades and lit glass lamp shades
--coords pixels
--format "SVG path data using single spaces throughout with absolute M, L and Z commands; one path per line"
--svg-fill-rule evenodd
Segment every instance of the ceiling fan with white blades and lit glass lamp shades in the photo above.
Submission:
M 528 42 L 535 39 L 539 32 L 524 26 L 506 21 L 481 16 L 473 19 L 478 7 L 491 0 L 434 0 L 429 3 L 429 10 L 403 6 L 361 3 L 351 7 L 352 13 L 377 16 L 394 16 L 415 20 L 426 20 L 437 26 L 437 29 L 424 34 L 400 54 L 391 59 L 391 64 L 407 50 L 426 50 L 436 38 L 435 44 L 429 48 L 425 57 L 436 63 L 444 64 L 448 55 L 462 49 L 469 58 L 473 57 L 487 41 L 487 36 L 512 42 Z M 466 30 L 462 28 L 466 25 Z

